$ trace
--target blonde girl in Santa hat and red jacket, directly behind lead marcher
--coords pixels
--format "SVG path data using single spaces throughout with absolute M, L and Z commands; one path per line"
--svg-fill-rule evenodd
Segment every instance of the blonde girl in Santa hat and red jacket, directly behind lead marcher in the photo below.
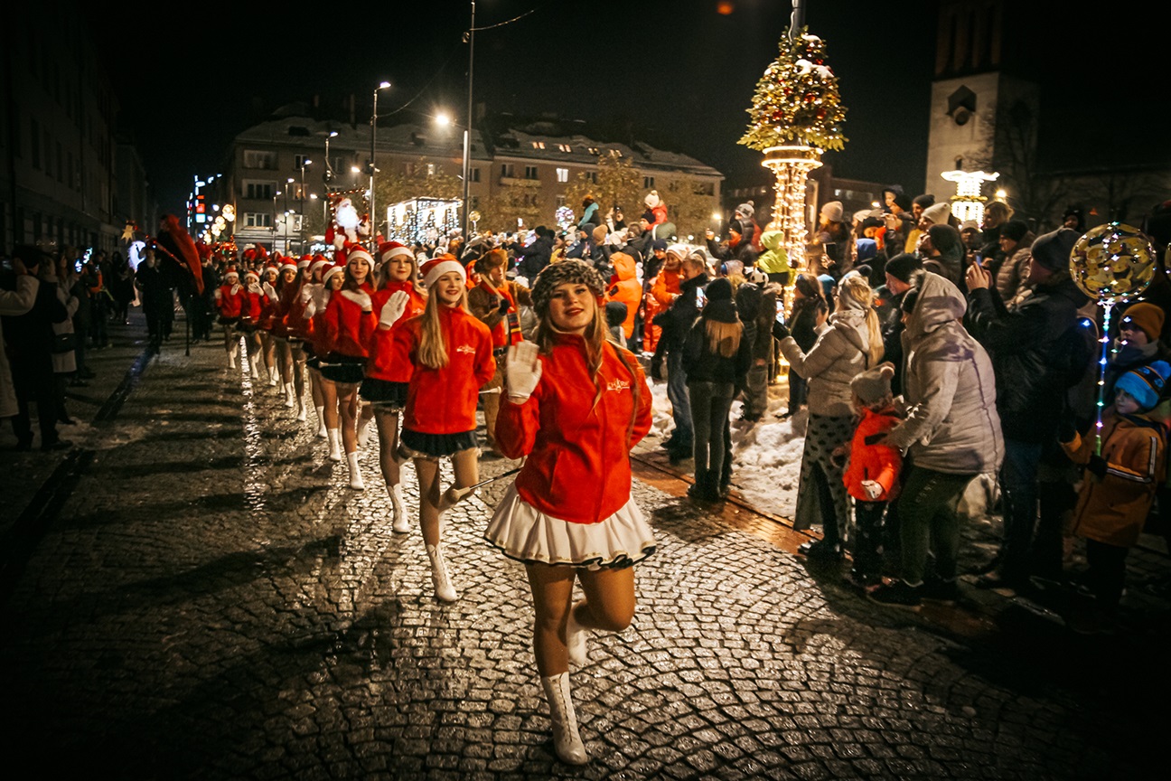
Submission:
M 413 365 L 406 390 L 399 451 L 415 460 L 419 480 L 419 526 L 431 559 L 436 596 L 454 602 L 439 547 L 440 518 L 471 493 L 479 479 L 475 403 L 480 386 L 495 374 L 492 334 L 467 311 L 467 278 L 452 255 L 439 255 L 422 268 L 427 302 L 423 314 L 393 329 L 392 362 Z M 456 482 L 439 491 L 439 459 L 448 457 Z

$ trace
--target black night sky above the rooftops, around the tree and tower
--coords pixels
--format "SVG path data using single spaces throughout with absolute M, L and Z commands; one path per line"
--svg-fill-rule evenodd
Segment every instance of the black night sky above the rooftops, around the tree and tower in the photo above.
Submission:
M 263 118 L 256 105 L 272 109 L 315 94 L 341 104 L 354 93 L 362 122 L 374 87 L 385 78 L 393 89 L 379 97 L 381 117 L 463 112 L 467 48 L 460 36 L 470 4 L 400 5 L 354 2 L 347 13 L 322 5 L 322 13 L 297 18 L 292 6 L 241 0 L 225 6 L 231 13 L 222 18 L 208 6 L 182 25 L 170 13 L 164 22 L 157 6 L 119 4 L 119 13 L 136 20 L 137 44 L 105 47 L 103 55 L 123 130 L 141 150 L 163 210 L 182 208 L 192 174 L 222 170 L 232 136 Z M 1047 82 L 1042 110 L 1062 139 L 1047 150 L 1055 163 L 1142 158 L 1148 149 L 1165 158 L 1171 144 L 1152 116 L 1155 88 L 1144 87 L 1157 73 L 1157 26 L 1128 18 L 1125 50 L 1118 52 L 1091 37 L 1086 20 L 1018 9 L 1028 5 L 1008 4 L 1018 32 L 1012 40 L 1027 49 L 1021 60 L 1035 63 L 1026 75 Z M 826 157 L 837 176 L 923 191 L 934 7 L 930 0 L 809 0 L 806 22 L 827 41 L 849 109 L 845 150 Z M 768 180 L 759 153 L 735 142 L 755 82 L 788 25 L 787 0 L 479 0 L 477 27 L 529 11 L 477 33 L 477 103 L 489 111 L 630 121 L 723 171 L 726 187 Z M 98 7 L 84 13 L 95 23 L 109 14 Z M 371 14 L 372 27 L 365 21 Z

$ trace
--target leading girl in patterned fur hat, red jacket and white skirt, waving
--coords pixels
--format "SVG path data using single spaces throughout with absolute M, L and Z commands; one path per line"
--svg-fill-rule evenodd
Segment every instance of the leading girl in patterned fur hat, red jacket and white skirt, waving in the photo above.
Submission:
M 630 450 L 650 431 L 651 393 L 635 356 L 607 341 L 604 283 L 564 260 L 533 286 L 535 341 L 508 349 L 508 400 L 497 441 L 528 457 L 485 539 L 525 563 L 536 611 L 533 651 L 557 756 L 587 761 L 569 663 L 587 663 L 589 630 L 622 631 L 635 612 L 632 564 L 655 537 L 630 495 Z M 598 491 L 587 486 L 601 486 Z M 586 598 L 571 603 L 574 581 Z

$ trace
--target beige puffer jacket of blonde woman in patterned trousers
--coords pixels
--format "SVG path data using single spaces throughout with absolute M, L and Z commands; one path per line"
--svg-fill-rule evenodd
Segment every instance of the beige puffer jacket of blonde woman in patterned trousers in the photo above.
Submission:
M 792 336 L 781 340 L 781 352 L 789 366 L 809 382 L 809 412 L 834 417 L 854 415 L 850 381 L 867 370 L 869 348 L 867 313 L 862 309 L 830 315 L 828 327 L 808 352 Z

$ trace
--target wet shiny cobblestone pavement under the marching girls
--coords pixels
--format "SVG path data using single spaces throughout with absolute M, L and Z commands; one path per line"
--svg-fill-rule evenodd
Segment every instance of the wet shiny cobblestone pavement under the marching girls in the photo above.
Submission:
M 480 539 L 505 480 L 451 511 L 461 598 L 439 603 L 418 532 L 390 530 L 374 438 L 357 493 L 311 411 L 296 423 L 219 342 L 172 340 L 136 372 L 141 329 L 115 337 L 71 402 L 77 447 L 0 455 L 0 734 L 39 775 L 1164 776 L 1162 550 L 1132 554 L 1110 636 L 970 585 L 959 608 L 883 609 L 807 569 L 807 536 L 765 508 L 682 496 L 653 443 L 635 495 L 659 549 L 632 626 L 571 673 L 591 762 L 561 765 L 523 569 Z M 992 534 L 970 530 L 968 562 Z

